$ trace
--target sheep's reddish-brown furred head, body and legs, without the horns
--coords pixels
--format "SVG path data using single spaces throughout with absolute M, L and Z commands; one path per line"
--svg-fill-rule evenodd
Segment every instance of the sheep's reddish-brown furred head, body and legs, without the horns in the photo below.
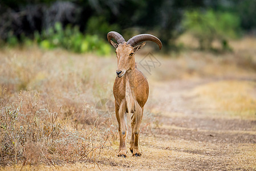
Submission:
M 118 156 L 127 156 L 127 113 L 131 114 L 132 137 L 130 150 L 133 156 L 140 156 L 139 152 L 139 132 L 140 123 L 143 117 L 143 107 L 148 100 L 149 87 L 145 76 L 137 70 L 135 64 L 135 53 L 142 48 L 145 43 L 132 47 L 130 44 L 113 44 L 117 54 L 117 72 L 113 85 L 115 96 L 116 118 L 119 124 L 120 145 Z M 130 55 L 133 53 L 132 55 Z

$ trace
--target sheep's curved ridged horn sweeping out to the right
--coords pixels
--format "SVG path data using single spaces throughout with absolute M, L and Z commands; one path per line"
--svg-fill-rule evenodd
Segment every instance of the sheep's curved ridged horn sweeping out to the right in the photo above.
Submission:
M 151 34 L 139 34 L 139 35 L 133 36 L 131 39 L 129 39 L 127 41 L 127 44 L 130 44 L 133 47 L 136 44 L 138 44 L 142 41 L 145 41 L 145 40 L 150 40 L 152 42 L 155 42 L 156 44 L 158 44 L 159 49 L 162 48 L 162 43 L 159 40 L 159 38 L 157 38 L 156 36 L 153 36 Z

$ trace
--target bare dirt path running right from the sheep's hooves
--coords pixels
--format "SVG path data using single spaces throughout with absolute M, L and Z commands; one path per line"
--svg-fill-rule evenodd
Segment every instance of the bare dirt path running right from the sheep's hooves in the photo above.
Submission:
M 215 82 L 216 80 L 214 80 Z M 101 169 L 254 170 L 256 120 L 222 117 L 195 105 L 184 93 L 213 80 L 177 81 L 152 86 L 149 105 L 159 111 L 159 128 L 140 137 L 143 156 L 105 152 Z M 166 93 L 168 92 L 168 93 Z

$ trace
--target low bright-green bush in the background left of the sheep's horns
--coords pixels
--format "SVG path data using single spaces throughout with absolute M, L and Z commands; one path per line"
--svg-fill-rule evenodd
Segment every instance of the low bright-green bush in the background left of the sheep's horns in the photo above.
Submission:
M 56 23 L 54 28 L 44 30 L 41 34 L 35 32 L 34 38 L 44 49 L 62 47 L 78 53 L 96 52 L 98 55 L 109 55 L 111 52 L 107 42 L 97 35 L 84 35 L 77 26 L 68 25 L 63 29 L 60 23 Z

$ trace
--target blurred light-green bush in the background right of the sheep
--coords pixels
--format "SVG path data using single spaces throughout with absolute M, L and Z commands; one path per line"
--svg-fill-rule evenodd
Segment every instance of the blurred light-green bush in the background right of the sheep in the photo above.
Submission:
M 227 40 L 239 36 L 239 25 L 236 15 L 213 10 L 186 11 L 182 21 L 182 26 L 198 39 L 201 49 L 212 48 L 213 40 L 218 40 L 224 50 L 229 49 Z

